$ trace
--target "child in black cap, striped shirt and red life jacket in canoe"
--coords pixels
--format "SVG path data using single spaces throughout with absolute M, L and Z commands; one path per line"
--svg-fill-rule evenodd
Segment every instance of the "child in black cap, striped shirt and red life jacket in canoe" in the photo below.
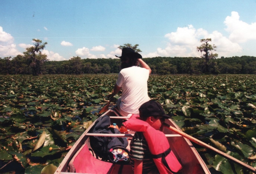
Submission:
M 181 165 L 172 154 L 167 138 L 160 132 L 165 119 L 171 117 L 165 114 L 161 104 L 156 101 L 145 102 L 139 111 L 140 116 L 132 115 L 124 123 L 127 129 L 136 131 L 130 143 L 130 161 L 134 173 L 167 174 L 179 171 Z M 163 153 L 166 154 L 164 160 L 167 164 L 163 163 Z

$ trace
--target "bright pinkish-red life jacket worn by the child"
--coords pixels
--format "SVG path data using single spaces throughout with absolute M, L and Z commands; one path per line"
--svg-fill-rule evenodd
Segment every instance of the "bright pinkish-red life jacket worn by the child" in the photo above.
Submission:
M 170 149 L 169 142 L 163 132 L 154 129 L 147 122 L 140 120 L 139 115 L 132 115 L 124 122 L 127 129 L 143 132 L 152 154 L 154 163 L 160 174 L 178 172 L 182 166 Z

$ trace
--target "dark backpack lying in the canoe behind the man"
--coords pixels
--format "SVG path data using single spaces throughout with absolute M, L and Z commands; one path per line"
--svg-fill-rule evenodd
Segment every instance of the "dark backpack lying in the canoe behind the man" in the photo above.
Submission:
M 111 122 L 108 115 L 99 117 L 91 133 L 102 133 L 102 134 L 120 134 L 118 129 L 112 127 L 109 128 Z M 109 159 L 110 149 L 116 146 L 121 146 L 126 148 L 128 146 L 128 141 L 126 138 L 117 137 L 100 137 L 100 136 L 90 136 L 90 146 L 96 157 L 102 158 L 102 160 L 107 161 Z

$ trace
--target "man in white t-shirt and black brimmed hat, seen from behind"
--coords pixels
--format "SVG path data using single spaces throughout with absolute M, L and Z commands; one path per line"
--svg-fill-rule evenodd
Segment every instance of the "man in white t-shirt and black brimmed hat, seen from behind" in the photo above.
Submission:
M 140 106 L 149 101 L 148 77 L 150 67 L 142 60 L 142 56 L 131 48 L 123 48 L 121 59 L 121 71 L 111 97 L 122 89 L 122 96 L 117 101 L 119 113 L 122 116 L 139 114 Z M 140 65 L 140 67 L 139 67 Z

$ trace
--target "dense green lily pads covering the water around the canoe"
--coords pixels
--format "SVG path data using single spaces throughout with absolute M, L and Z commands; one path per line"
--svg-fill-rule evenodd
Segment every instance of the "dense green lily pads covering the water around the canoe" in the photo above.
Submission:
M 117 74 L 0 76 L 0 173 L 35 174 L 58 166 L 98 118 L 116 78 Z M 255 75 L 151 75 L 148 94 L 183 132 L 256 166 Z M 212 173 L 249 173 L 195 147 Z

